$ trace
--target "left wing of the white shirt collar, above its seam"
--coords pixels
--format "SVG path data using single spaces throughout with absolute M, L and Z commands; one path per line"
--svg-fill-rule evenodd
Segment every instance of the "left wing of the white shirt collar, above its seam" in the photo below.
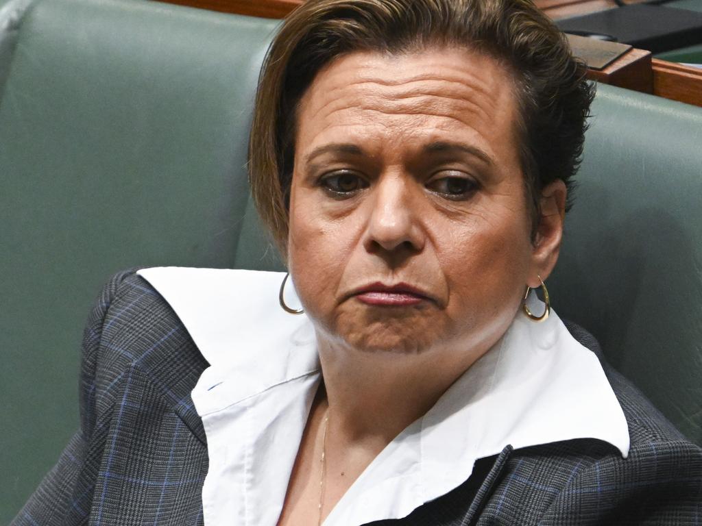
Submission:
M 200 416 L 319 369 L 307 316 L 277 303 L 284 274 L 184 267 L 138 274 L 171 305 L 210 364 L 192 392 Z M 232 371 L 239 379 L 225 382 Z

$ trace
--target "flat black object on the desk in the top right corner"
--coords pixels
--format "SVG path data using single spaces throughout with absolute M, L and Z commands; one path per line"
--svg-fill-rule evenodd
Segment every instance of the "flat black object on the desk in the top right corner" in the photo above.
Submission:
M 702 43 L 702 13 L 637 4 L 557 20 L 562 31 L 611 36 L 635 48 L 660 53 Z

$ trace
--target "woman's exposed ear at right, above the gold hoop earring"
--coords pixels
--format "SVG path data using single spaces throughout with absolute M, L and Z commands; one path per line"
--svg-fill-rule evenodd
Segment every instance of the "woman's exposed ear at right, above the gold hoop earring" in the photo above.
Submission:
M 541 285 L 538 276 L 546 281 L 558 260 L 566 214 L 566 196 L 566 185 L 559 179 L 548 184 L 541 191 L 539 201 L 541 211 L 527 281 L 527 285 L 531 288 Z

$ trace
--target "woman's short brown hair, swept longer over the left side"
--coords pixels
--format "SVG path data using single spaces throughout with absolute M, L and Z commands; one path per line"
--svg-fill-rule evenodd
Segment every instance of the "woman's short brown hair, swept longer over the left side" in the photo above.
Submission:
M 354 51 L 397 54 L 437 45 L 487 53 L 512 72 L 532 230 L 541 189 L 555 179 L 572 186 L 593 88 L 562 33 L 531 1 L 307 0 L 268 51 L 249 142 L 253 199 L 284 255 L 297 107 L 314 77 Z

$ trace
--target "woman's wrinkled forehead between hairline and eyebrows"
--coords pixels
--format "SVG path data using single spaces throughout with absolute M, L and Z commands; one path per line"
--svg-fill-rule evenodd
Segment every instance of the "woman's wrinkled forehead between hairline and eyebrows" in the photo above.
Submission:
M 512 75 L 484 53 L 350 53 L 324 67 L 300 100 L 296 150 L 460 140 L 491 157 L 514 157 L 516 108 Z

